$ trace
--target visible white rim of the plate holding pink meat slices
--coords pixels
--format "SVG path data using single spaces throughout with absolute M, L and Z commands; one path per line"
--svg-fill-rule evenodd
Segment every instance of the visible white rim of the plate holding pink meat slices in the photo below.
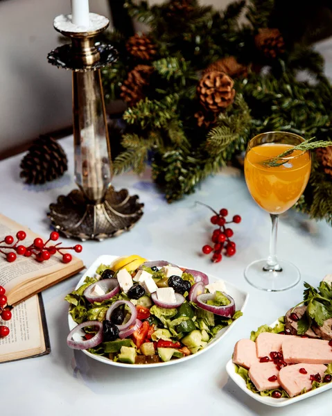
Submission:
M 272 324 L 270 324 L 270 327 L 274 327 L 278 323 L 278 320 L 274 321 Z M 288 406 L 289 404 L 296 403 L 297 401 L 301 401 L 304 399 L 308 399 L 308 397 L 313 397 L 315 395 L 319 395 L 322 392 L 326 392 L 326 390 L 330 390 L 332 388 L 332 383 L 323 385 L 322 387 L 315 388 L 315 390 L 311 390 L 310 392 L 304 393 L 304 395 L 299 395 L 291 398 L 287 397 L 281 397 L 280 399 L 274 399 L 273 397 L 263 397 L 259 395 L 258 393 L 252 392 L 252 390 L 249 390 L 247 388 L 247 385 L 245 383 L 245 379 L 243 379 L 239 374 L 235 371 L 235 365 L 231 359 L 228 361 L 226 365 L 226 371 L 228 375 L 231 377 L 231 379 L 238 385 L 241 390 L 243 390 L 247 395 L 252 397 L 252 399 L 255 399 L 257 401 L 260 401 L 263 404 L 266 404 L 268 406 L 274 406 L 274 407 L 283 407 Z

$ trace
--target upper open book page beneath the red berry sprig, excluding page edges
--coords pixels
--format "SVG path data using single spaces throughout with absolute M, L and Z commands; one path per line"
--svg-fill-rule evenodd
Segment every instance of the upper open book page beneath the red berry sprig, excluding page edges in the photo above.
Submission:
M 15 223 L 15 221 L 10 220 L 10 218 L 0 214 L 0 241 L 6 235 L 12 235 L 15 239 L 15 235 L 19 229 L 26 232 L 26 239 L 22 241 L 22 244 L 25 246 L 33 243 L 33 240 L 38 236 L 27 227 L 23 227 Z M 4 251 L 10 252 L 10 250 Z M 77 261 L 80 260 L 73 256 L 71 263 L 64 264 L 62 263 L 62 256 L 55 254 L 51 259 L 43 263 L 37 262 L 34 257 L 24 256 L 17 256 L 17 259 L 13 263 L 8 263 L 4 254 L 0 253 L 0 285 L 6 288 L 6 295 L 8 297 L 10 291 L 21 282 L 27 282 L 60 270 L 66 270 L 69 265 L 73 266 L 73 263 Z

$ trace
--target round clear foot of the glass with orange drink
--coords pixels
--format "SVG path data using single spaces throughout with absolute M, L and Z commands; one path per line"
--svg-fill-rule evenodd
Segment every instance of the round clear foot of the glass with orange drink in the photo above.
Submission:
M 279 261 L 282 271 L 264 270 L 267 260 L 250 263 L 245 268 L 245 279 L 257 289 L 268 292 L 286 291 L 299 283 L 299 269 L 289 261 Z

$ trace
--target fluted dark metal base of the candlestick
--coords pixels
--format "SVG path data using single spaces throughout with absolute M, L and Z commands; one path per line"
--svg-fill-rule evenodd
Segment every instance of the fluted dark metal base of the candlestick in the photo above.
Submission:
M 138 196 L 129 196 L 127 189 L 110 187 L 100 204 L 89 202 L 82 191 L 75 189 L 59 196 L 49 206 L 48 214 L 55 229 L 68 238 L 98 240 L 119 236 L 129 231 L 143 215 Z

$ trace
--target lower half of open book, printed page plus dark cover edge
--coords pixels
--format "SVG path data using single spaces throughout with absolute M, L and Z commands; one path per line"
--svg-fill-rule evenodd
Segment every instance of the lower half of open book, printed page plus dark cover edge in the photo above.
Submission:
M 0 338 L 0 363 L 51 352 L 42 295 L 30 297 L 15 306 L 12 319 L 4 323 L 10 333 Z

